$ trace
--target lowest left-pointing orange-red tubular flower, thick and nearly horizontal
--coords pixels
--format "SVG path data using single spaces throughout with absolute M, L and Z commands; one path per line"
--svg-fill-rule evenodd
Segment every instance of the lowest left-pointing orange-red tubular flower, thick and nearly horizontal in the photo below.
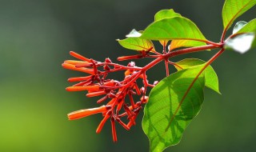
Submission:
M 67 117 L 70 120 L 78 119 L 78 118 L 83 118 L 87 117 L 92 114 L 98 114 L 98 113 L 103 113 L 106 112 L 107 110 L 110 110 L 111 106 L 100 106 L 98 108 L 91 108 L 91 109 L 86 109 L 86 110 L 77 110 L 74 111 L 70 114 L 67 114 Z

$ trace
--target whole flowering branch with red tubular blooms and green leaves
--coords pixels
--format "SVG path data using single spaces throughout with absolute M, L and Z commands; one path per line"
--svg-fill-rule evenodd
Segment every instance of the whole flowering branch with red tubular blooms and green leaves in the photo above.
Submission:
M 154 22 L 145 30 L 132 30 L 126 39 L 118 39 L 124 48 L 138 51 L 135 55 L 118 57 L 118 61 L 152 58 L 146 66 L 138 67 L 133 61 L 123 66 L 112 62 L 110 58 L 98 62 L 70 51 L 70 55 L 78 58 L 78 61 L 66 60 L 62 66 L 89 75 L 69 78 L 69 82 L 76 84 L 66 90 L 86 90 L 88 98 L 102 96 L 97 103 L 105 105 L 74 111 L 68 114 L 68 118 L 74 120 L 101 113 L 103 118 L 96 133 L 100 133 L 105 122 L 110 120 L 113 141 L 117 142 L 116 123 L 130 130 L 136 124 L 142 107 L 146 105 L 142 129 L 150 139 L 150 150 L 162 151 L 168 146 L 174 146 L 180 142 L 186 126 L 201 110 L 204 87 L 220 93 L 218 76 L 210 64 L 225 50 L 245 53 L 255 46 L 255 19 L 248 23 L 237 22 L 233 33 L 226 37 L 234 20 L 255 4 L 256 0 L 226 0 L 222 9 L 223 32 L 220 42 L 207 40 L 194 22 L 174 10 L 158 11 Z M 152 41 L 160 42 L 162 50 L 157 51 Z M 178 55 L 216 49 L 218 52 L 206 62 L 198 58 L 171 61 Z M 146 72 L 159 62 L 165 63 L 166 78 L 160 82 L 150 81 Z M 170 66 L 174 66 L 177 72 L 170 74 Z M 121 81 L 108 77 L 108 74 L 118 71 L 124 73 Z M 147 90 L 150 90 L 150 94 Z M 140 100 L 135 101 L 134 97 Z

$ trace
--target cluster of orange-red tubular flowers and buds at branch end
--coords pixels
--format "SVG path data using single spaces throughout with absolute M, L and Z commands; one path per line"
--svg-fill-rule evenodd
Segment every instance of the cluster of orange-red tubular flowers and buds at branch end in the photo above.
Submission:
M 108 100 L 106 106 L 97 108 L 77 110 L 68 114 L 70 120 L 87 117 L 91 114 L 102 113 L 102 122 L 98 125 L 96 133 L 100 133 L 105 122 L 110 119 L 112 126 L 113 141 L 117 142 L 117 134 L 115 123 L 118 122 L 126 130 L 130 130 L 131 126 L 135 125 L 135 119 L 139 111 L 142 109 L 142 104 L 148 101 L 146 96 L 146 87 L 154 86 L 148 84 L 146 72 L 141 67 L 135 66 L 134 62 L 130 62 L 127 66 L 122 66 L 111 62 L 110 58 L 106 58 L 105 62 L 97 62 L 94 59 L 85 58 L 80 54 L 70 51 L 70 55 L 78 58 L 81 61 L 66 60 L 62 66 L 69 70 L 78 70 L 86 74 L 85 77 L 69 78 L 69 82 L 77 82 L 73 86 L 67 87 L 68 91 L 83 91 L 87 90 L 87 97 L 95 97 L 102 95 L 97 103 L 102 103 Z M 126 57 L 121 57 L 121 60 Z M 123 70 L 125 77 L 122 81 L 107 79 L 107 75 Z M 142 78 L 144 86 L 138 87 L 137 80 Z M 134 95 L 141 95 L 138 102 L 134 102 Z M 129 101 L 127 101 L 127 98 Z M 123 118 L 126 117 L 126 123 Z M 121 120 L 122 119 L 122 120 Z

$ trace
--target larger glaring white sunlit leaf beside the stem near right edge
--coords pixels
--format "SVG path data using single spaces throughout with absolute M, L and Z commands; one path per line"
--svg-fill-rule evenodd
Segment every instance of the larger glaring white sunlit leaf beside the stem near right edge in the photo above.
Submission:
M 235 38 L 227 39 L 225 42 L 226 49 L 233 49 L 234 51 L 244 54 L 248 50 L 250 50 L 253 42 L 254 42 L 255 34 L 241 34 Z

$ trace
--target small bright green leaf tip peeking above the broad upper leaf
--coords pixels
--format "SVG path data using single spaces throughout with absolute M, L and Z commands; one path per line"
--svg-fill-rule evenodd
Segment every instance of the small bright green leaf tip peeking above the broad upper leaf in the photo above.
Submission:
M 160 10 L 157 14 L 154 15 L 154 22 L 162 20 L 164 18 L 174 18 L 182 17 L 181 14 L 175 13 L 173 9 L 170 10 Z

